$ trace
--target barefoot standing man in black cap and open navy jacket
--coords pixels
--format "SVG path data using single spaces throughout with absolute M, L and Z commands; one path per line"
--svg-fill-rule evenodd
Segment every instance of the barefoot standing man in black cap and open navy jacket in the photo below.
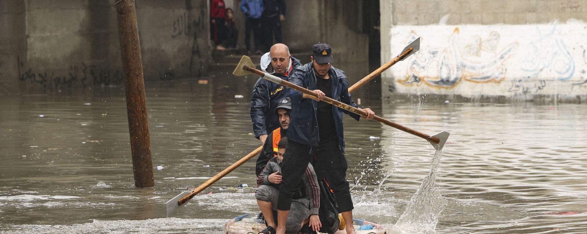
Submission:
M 315 44 L 311 59 L 311 63 L 296 67 L 289 78 L 289 82 L 313 90 L 318 97 L 313 98 L 294 90 L 288 92 L 288 97 L 292 101 L 292 117 L 287 133 L 289 141 L 284 154 L 284 164 L 289 166 L 282 168 L 277 205 L 278 223 L 285 223 L 287 219 L 292 194 L 299 188 L 301 175 L 311 161 L 312 152 L 316 157 L 316 165 L 323 171 L 321 177 L 326 179 L 335 194 L 339 212 L 346 223 L 352 223 L 353 204 L 349 182 L 346 181 L 348 165 L 345 157 L 342 113 L 349 114 L 356 120 L 359 120 L 359 115 L 321 100 L 330 97 L 353 107 L 357 105 L 350 99 L 345 72 L 330 65 L 330 45 Z M 370 108 L 363 111 L 367 113 L 367 119 L 375 117 Z M 318 171 L 316 169 L 316 172 Z M 319 177 L 319 180 L 322 178 Z M 356 233 L 352 225 L 347 226 L 346 232 Z M 277 233 L 285 233 L 285 226 L 279 225 Z

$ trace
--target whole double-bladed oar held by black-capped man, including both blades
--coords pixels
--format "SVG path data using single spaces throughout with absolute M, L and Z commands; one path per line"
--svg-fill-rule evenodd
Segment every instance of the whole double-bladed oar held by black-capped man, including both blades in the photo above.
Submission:
M 272 74 L 268 74 L 266 72 L 261 72 L 261 70 L 257 70 L 254 67 L 255 67 L 255 65 L 253 65 L 253 62 L 251 61 L 250 57 L 242 56 L 241 62 L 238 63 L 237 68 L 234 70 L 234 72 L 232 72 L 232 74 L 234 74 L 235 76 L 246 76 L 248 74 L 257 74 L 258 76 L 261 76 L 261 77 L 263 77 L 263 79 L 269 80 L 270 82 L 274 82 L 277 84 L 281 84 L 283 86 L 287 86 L 291 89 L 294 89 L 294 90 L 299 91 L 301 93 L 308 94 L 309 96 L 312 96 L 312 97 L 318 97 L 316 95 L 316 93 L 314 93 L 312 90 L 305 89 L 305 88 L 300 87 L 294 83 L 288 82 L 287 80 L 282 80 L 281 78 L 276 77 Z M 332 104 L 336 107 L 342 108 L 344 110 L 348 110 L 352 113 L 358 114 L 359 116 L 367 117 L 367 113 L 365 111 L 363 111 L 359 108 L 349 106 L 348 104 L 342 103 L 340 101 L 331 99 L 330 97 L 325 97 L 322 101 L 325 101 L 326 103 L 330 103 L 330 104 Z M 416 135 L 417 137 L 424 138 L 430 144 L 432 144 L 432 146 L 434 148 L 436 148 L 436 150 L 441 150 L 444 147 L 444 143 L 446 143 L 446 140 L 449 135 L 449 133 L 447 131 L 442 131 L 441 133 L 438 133 L 436 135 L 428 135 L 428 134 L 420 133 L 419 131 L 413 130 L 408 127 L 404 127 L 404 126 L 397 124 L 397 123 L 393 123 L 392 121 L 386 120 L 386 119 L 379 117 L 379 116 L 375 116 L 375 118 L 373 118 L 373 120 L 375 120 L 379 123 L 385 124 L 387 126 L 397 128 L 397 129 L 402 130 L 406 133 Z

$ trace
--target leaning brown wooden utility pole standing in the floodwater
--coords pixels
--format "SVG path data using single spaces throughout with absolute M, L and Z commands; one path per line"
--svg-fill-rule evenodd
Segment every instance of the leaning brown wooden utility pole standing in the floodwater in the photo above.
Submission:
M 133 0 L 116 1 L 120 54 L 124 71 L 124 90 L 126 91 L 126 110 L 129 116 L 130 147 L 133 154 L 134 185 L 139 188 L 155 186 L 143 61 L 137 28 L 137 12 Z

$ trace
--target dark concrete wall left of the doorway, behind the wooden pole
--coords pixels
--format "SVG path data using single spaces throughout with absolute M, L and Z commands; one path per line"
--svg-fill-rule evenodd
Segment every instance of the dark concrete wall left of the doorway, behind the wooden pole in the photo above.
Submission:
M 122 84 L 114 1 L 0 0 L 0 94 Z M 147 81 L 207 73 L 207 0 L 137 2 Z

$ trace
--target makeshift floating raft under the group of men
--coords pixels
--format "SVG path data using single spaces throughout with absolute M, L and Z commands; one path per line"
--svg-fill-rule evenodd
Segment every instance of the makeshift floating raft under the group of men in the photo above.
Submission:
M 224 232 L 225 234 L 257 234 L 265 229 L 264 223 L 258 223 L 256 221 L 255 216 L 251 215 L 241 215 L 237 216 L 234 219 L 231 219 L 224 225 Z M 359 226 L 362 225 L 372 225 L 373 228 L 369 230 L 358 230 Z M 355 230 L 357 234 L 384 234 L 386 233 L 385 228 L 382 225 L 372 223 L 369 221 L 364 221 L 360 219 L 353 219 L 353 225 L 355 226 Z M 319 232 L 321 233 L 321 232 Z M 338 230 L 335 234 L 346 234 L 346 230 Z

